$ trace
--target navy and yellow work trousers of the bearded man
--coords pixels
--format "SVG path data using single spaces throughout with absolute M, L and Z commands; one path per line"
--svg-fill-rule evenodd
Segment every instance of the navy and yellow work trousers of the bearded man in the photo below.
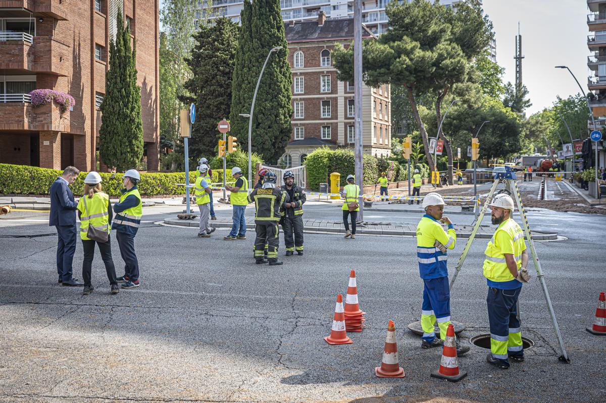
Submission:
M 488 287 L 488 323 L 490 351 L 494 358 L 509 365 L 508 356 L 524 355 L 522 333 L 518 319 L 518 297 L 522 287 L 504 290 Z

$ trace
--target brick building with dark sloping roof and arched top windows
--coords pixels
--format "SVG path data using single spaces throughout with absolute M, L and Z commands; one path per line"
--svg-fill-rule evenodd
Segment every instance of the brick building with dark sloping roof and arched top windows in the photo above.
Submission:
M 353 43 L 353 18 L 326 19 L 285 26 L 288 62 L 293 74 L 293 133 L 282 157 L 284 165 L 299 166 L 320 146 L 353 148 L 353 85 L 337 79 L 331 51 L 336 43 Z M 362 25 L 362 38 L 375 38 Z M 362 87 L 363 149 L 387 157 L 391 152 L 390 88 Z

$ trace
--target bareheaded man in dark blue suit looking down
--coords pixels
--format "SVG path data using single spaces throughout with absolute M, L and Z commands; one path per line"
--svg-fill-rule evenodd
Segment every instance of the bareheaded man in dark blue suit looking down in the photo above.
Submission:
M 80 171 L 68 166 L 63 174 L 50 186 L 50 217 L 48 225 L 55 226 L 59 235 L 57 244 L 57 274 L 59 284 L 64 286 L 82 286 L 78 279 L 72 278 L 72 261 L 76 252 L 76 206 L 72 185 Z

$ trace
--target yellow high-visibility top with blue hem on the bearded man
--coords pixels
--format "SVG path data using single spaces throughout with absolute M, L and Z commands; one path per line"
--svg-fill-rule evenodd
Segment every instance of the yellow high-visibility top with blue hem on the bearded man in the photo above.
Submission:
M 513 251 L 511 250 L 512 244 Z M 521 287 L 522 283 L 513 278 L 507 268 L 505 253 L 513 252 L 516 263 L 518 263 L 518 269 L 520 269 L 522 267 L 522 252 L 525 250 L 524 232 L 522 232 L 518 223 L 508 218 L 499 224 L 484 251 L 484 277 L 487 278 L 488 286 L 499 289 Z

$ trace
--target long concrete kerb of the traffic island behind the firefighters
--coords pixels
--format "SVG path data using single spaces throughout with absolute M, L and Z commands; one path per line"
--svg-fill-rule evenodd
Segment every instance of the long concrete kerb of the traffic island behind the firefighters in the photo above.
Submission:
M 327 221 L 330 223 L 330 226 L 327 226 L 326 223 L 322 221 L 315 221 L 315 223 L 311 225 L 304 226 L 305 232 L 327 232 L 331 234 L 344 234 L 344 228 L 334 228 L 332 226 L 332 221 Z M 175 226 L 183 226 L 183 227 L 198 227 L 198 220 L 179 220 L 178 218 L 165 218 L 164 224 L 175 225 Z M 211 226 L 215 228 L 231 228 L 231 221 L 213 221 L 211 222 Z M 396 226 L 394 226 L 396 227 Z M 254 223 L 246 224 L 247 230 L 255 229 Z M 406 231 L 403 229 L 376 229 L 376 228 L 359 228 L 356 230 L 357 234 L 365 234 L 365 235 L 396 235 L 396 236 L 410 236 L 413 237 L 416 235 L 415 231 Z M 533 231 L 533 240 L 535 241 L 546 241 L 546 240 L 557 240 L 558 234 L 553 232 L 538 232 Z M 457 237 L 460 238 L 469 238 L 471 235 L 471 231 L 457 231 Z M 478 239 L 490 239 L 492 237 L 492 233 L 485 234 L 478 232 L 476 234 L 476 238 Z

